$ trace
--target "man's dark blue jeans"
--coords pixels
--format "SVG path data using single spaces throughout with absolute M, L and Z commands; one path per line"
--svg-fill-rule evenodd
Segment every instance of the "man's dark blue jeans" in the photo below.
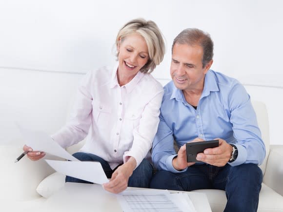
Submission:
M 224 212 L 256 212 L 262 181 L 261 169 L 252 163 L 234 167 L 229 164 L 223 167 L 195 164 L 182 173 L 158 171 L 150 188 L 177 191 L 220 189 L 227 197 Z

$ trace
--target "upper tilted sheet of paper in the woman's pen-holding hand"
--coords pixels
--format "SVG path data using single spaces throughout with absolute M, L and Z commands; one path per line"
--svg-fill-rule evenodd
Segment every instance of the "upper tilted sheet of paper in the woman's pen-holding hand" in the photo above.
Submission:
M 68 160 L 79 161 L 76 157 L 69 154 L 57 142 L 55 142 L 50 135 L 40 131 L 24 129 L 19 124 L 17 125 L 25 141 L 24 144 L 31 147 L 34 151 L 41 151 Z

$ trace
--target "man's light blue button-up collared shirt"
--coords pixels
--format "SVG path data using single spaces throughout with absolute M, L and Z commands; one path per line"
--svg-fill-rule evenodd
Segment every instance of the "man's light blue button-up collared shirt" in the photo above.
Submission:
M 186 102 L 173 81 L 164 87 L 160 123 L 153 141 L 155 167 L 178 173 L 172 165 L 177 155 L 173 141 L 181 147 L 196 137 L 204 140 L 219 137 L 235 144 L 238 157 L 230 163 L 231 166 L 261 164 L 265 157 L 265 146 L 250 96 L 239 81 L 212 70 L 205 76 L 197 110 Z

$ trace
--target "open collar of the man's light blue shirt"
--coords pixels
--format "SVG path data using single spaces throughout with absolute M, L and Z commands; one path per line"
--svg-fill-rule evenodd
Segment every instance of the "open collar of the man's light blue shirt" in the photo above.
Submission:
M 183 92 L 180 89 L 175 87 L 173 81 L 172 83 L 173 83 L 173 89 L 172 89 L 172 94 L 171 94 L 170 99 L 175 98 L 177 101 L 185 102 Z M 212 92 L 219 91 L 219 87 L 218 87 L 215 75 L 213 74 L 213 71 L 208 70 L 208 72 L 206 73 L 204 77 L 204 87 L 203 87 L 201 98 L 204 96 L 208 96 L 211 91 Z

